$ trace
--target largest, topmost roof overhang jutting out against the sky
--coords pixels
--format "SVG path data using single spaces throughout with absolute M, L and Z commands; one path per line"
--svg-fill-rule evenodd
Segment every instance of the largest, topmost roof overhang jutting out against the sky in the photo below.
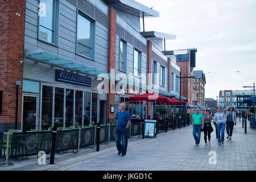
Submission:
M 116 10 L 124 11 L 131 15 L 138 16 L 140 18 L 144 16 L 159 17 L 159 12 L 150 9 L 147 6 L 142 5 L 133 0 L 102 0 L 106 5 L 114 7 Z

